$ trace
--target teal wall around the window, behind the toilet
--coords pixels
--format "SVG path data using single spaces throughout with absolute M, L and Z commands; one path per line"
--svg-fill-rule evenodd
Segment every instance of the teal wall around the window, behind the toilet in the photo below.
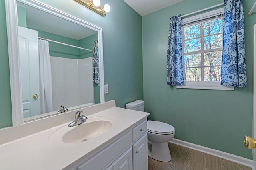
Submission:
M 252 135 L 252 69 L 255 0 L 244 0 L 247 88 L 226 90 L 177 89 L 166 83 L 166 48 L 170 17 L 188 14 L 222 0 L 184 0 L 142 17 L 143 90 L 149 119 L 175 127 L 175 138 L 252 159 L 243 144 Z

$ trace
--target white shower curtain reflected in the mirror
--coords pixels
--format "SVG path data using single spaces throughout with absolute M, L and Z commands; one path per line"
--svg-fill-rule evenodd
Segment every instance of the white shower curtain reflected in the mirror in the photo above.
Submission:
M 45 40 L 38 40 L 39 55 L 39 83 L 41 112 L 53 111 L 52 107 L 52 70 L 49 54 L 49 43 Z

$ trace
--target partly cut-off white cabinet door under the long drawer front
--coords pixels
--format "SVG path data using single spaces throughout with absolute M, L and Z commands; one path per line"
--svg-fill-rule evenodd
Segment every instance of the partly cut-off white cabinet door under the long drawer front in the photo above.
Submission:
M 132 170 L 132 147 L 112 163 L 113 170 Z

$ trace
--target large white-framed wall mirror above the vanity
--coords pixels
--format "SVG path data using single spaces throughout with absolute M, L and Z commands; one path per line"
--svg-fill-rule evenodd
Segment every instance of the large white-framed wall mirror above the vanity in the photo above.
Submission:
M 13 125 L 104 102 L 102 29 L 34 0 L 6 0 Z

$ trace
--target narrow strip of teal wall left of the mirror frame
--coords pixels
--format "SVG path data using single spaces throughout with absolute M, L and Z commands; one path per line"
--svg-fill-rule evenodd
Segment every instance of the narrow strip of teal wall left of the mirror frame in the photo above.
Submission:
M 0 1 L 0 128 L 12 126 L 10 72 L 4 0 Z

